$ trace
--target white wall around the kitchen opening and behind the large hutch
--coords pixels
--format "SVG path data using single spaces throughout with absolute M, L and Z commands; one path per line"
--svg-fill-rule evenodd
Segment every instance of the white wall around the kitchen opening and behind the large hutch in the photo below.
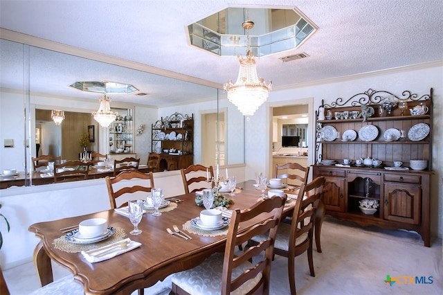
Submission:
M 422 96 L 428 94 L 431 87 L 434 89 L 431 234 L 441 238 L 443 236 L 443 152 L 439 147 L 443 146 L 443 62 L 271 91 L 266 105 L 262 105 L 246 123 L 246 179 L 253 179 L 255 171 L 269 170 L 272 152 L 272 138 L 269 138 L 272 128 L 272 114 L 269 112 L 271 105 L 274 107 L 293 105 L 300 100 L 314 98 L 314 109 L 318 109 L 321 100 L 327 103 L 335 101 L 336 98 L 346 99 L 368 89 L 386 90 L 397 96 L 408 90 Z M 314 116 L 311 111 L 309 112 Z M 310 155 L 314 152 L 313 148 L 314 144 L 309 142 Z M 314 163 L 312 157 L 309 157 L 309 164 L 312 163 Z

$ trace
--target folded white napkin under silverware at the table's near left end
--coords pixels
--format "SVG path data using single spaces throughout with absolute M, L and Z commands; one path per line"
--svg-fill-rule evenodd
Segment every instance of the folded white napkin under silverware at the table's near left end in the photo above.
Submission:
M 120 247 L 121 244 L 127 244 L 127 247 Z M 103 260 L 108 260 L 114 258 L 120 254 L 126 253 L 127 251 L 131 251 L 141 246 L 141 243 L 132 241 L 129 238 L 125 240 L 115 242 L 113 244 L 109 244 L 104 247 L 100 247 L 98 249 L 93 249 L 89 251 L 82 251 L 82 255 L 84 259 L 88 260 L 91 263 L 100 262 Z

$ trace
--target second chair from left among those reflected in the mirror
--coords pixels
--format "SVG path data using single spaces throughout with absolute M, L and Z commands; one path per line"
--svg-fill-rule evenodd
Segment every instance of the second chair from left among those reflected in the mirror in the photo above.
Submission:
M 91 162 L 84 163 L 79 160 L 54 164 L 54 182 L 88 179 L 90 166 L 92 166 Z

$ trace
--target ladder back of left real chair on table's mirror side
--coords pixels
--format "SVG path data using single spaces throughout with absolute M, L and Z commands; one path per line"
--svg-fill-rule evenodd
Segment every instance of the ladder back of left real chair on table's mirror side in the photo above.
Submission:
M 116 177 L 105 177 L 111 209 L 127 206 L 129 199 L 146 199 L 154 188 L 152 173 L 144 174 L 135 170 L 121 172 Z M 132 186 L 128 186 L 129 184 Z

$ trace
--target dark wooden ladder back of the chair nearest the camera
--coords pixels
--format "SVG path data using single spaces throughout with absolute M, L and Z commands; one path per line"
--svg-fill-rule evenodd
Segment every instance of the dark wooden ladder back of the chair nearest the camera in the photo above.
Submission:
M 278 224 L 280 224 L 285 197 L 273 196 L 262 199 L 250 208 L 242 211 L 235 209 L 230 218 L 230 225 L 224 251 L 223 273 L 221 274 L 221 294 L 230 294 L 246 281 L 262 274 L 262 278 L 249 294 L 269 294 L 269 281 L 271 280 L 271 262 L 273 259 L 273 247 Z M 271 213 L 269 217 L 262 220 L 251 228 L 243 231 L 245 222 L 252 220 L 262 213 Z M 241 232 L 239 232 L 239 230 Z M 260 242 L 256 247 L 250 247 L 243 252 L 235 253 L 235 247 L 248 241 L 255 235 L 266 235 L 266 240 Z M 251 269 L 245 270 L 235 280 L 231 280 L 233 269 L 244 262 L 255 258 Z M 257 261 L 256 261 L 257 260 Z

